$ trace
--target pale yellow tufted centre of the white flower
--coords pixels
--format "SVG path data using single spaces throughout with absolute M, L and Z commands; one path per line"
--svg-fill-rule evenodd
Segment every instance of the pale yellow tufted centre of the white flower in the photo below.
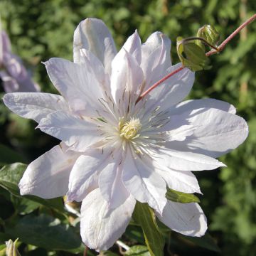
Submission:
M 124 122 L 123 118 L 119 122 L 120 137 L 130 140 L 139 137 L 139 129 L 142 128 L 139 118 L 131 118 L 129 122 Z

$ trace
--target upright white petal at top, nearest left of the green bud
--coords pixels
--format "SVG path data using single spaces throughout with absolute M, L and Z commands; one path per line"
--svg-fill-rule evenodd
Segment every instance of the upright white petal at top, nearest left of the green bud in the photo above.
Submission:
M 171 41 L 161 32 L 152 33 L 142 44 L 142 70 L 145 77 L 144 90 L 167 75 L 171 67 Z

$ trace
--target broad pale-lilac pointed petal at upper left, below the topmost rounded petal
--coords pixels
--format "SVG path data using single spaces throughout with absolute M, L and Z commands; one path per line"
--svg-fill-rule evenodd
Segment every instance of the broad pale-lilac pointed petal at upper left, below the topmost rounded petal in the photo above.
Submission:
M 51 58 L 44 64 L 51 82 L 68 100 L 73 111 L 90 117 L 97 115 L 96 110 L 101 107 L 97 99 L 104 97 L 104 87 L 93 70 L 100 67 L 61 58 Z

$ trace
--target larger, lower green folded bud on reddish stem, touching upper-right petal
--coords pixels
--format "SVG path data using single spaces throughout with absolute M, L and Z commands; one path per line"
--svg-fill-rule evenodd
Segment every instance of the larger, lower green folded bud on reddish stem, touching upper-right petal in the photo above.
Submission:
M 191 41 L 186 41 L 181 37 L 177 38 L 177 52 L 178 58 L 184 67 L 192 71 L 209 69 L 209 60 L 206 53 L 201 46 Z

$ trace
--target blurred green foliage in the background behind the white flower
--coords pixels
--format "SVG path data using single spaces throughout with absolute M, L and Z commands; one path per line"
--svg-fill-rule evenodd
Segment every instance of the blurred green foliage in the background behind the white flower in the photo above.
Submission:
M 33 78 L 46 92 L 55 92 L 50 85 L 46 70 L 41 61 L 52 57 L 73 57 L 73 31 L 78 23 L 87 17 L 101 18 L 112 31 L 117 48 L 126 38 L 138 29 L 142 41 L 154 31 L 162 31 L 176 42 L 177 36 L 186 38 L 196 35 L 198 28 L 211 24 L 220 32 L 223 41 L 242 21 L 252 16 L 256 10 L 254 0 L 1 0 L 0 14 L 4 29 L 9 33 L 15 53 L 33 72 Z M 218 242 L 222 255 L 255 255 L 256 251 L 256 22 L 245 28 L 231 41 L 220 55 L 210 57 L 213 68 L 196 74 L 196 82 L 191 98 L 213 97 L 225 100 L 237 107 L 238 114 L 244 117 L 250 126 L 247 141 L 222 161 L 228 165 L 217 171 L 205 171 L 196 174 L 204 196 L 201 205 L 210 225 L 210 234 Z M 172 60 L 178 61 L 176 47 L 171 49 Z M 9 146 L 18 152 L 14 161 L 28 163 L 57 143 L 38 130 L 34 122 L 11 114 L 4 105 L 0 105 L 1 149 Z M 4 146 L 2 146 L 4 145 Z M 10 149 L 10 150 L 11 150 Z M 4 150 L 4 149 L 3 149 Z M 1 165 L 4 160 L 1 158 Z M 7 161 L 7 160 L 6 160 Z M 10 164 L 8 158 L 6 164 Z M 47 203 L 33 201 L 32 209 L 26 201 L 10 196 L 6 189 L 0 188 L 0 243 L 13 238 L 4 234 L 18 221 L 23 223 L 45 222 L 61 232 L 74 237 L 79 233 L 75 227 L 67 228 L 65 212 L 60 213 L 49 208 Z M 18 200 L 18 202 L 17 202 Z M 30 200 L 27 198 L 26 200 Z M 18 219 L 17 209 L 30 213 L 27 218 Z M 50 209 L 50 210 L 49 210 Z M 32 213 L 31 213 L 32 211 Z M 36 217 L 39 213 L 43 217 Z M 22 221 L 22 222 L 19 222 Z M 60 222 L 61 221 L 61 224 Z M 7 224 L 6 224 L 7 223 Z M 22 229 L 22 228 L 21 228 Z M 74 230 L 73 230 L 74 229 Z M 17 226 L 13 230 L 17 231 Z M 11 231 L 10 231 L 11 232 Z M 60 231 L 58 231 L 60 232 Z M 60 233 L 61 233 L 60 232 Z M 123 239 L 129 245 L 143 239 L 142 230 L 129 227 Z M 11 233 L 10 233 L 11 234 Z M 26 234 L 25 234 L 26 237 Z M 13 238 L 15 239 L 15 238 Z M 27 237 L 26 237 L 27 239 Z M 28 240 L 21 240 L 28 242 Z M 61 244 L 61 237 L 60 239 Z M 176 233 L 169 234 L 166 254 L 171 247 L 178 255 L 218 255 L 217 252 L 199 250 L 200 242 L 188 241 Z M 58 243 L 58 240 L 56 241 Z M 33 242 L 31 242 L 33 244 Z M 201 242 L 202 243 L 202 242 Z M 204 241 L 204 247 L 207 241 Z M 73 255 L 80 250 L 47 251 L 46 247 L 22 244 L 19 249 L 23 255 Z M 58 247 L 58 245 L 56 245 Z M 201 245 L 202 246 L 202 245 Z M 63 249 L 63 247 L 58 249 Z M 4 250 L 0 247 L 0 254 Z M 143 253 L 144 247 L 143 247 Z M 217 250 L 215 250 L 217 251 Z M 114 248 L 112 255 L 118 253 Z M 92 255 L 88 252 L 88 255 Z M 106 254 L 110 255 L 110 254 Z M 127 254 L 128 255 L 128 254 Z M 141 254 L 142 255 L 142 254 Z M 146 255 L 146 254 L 145 254 Z

